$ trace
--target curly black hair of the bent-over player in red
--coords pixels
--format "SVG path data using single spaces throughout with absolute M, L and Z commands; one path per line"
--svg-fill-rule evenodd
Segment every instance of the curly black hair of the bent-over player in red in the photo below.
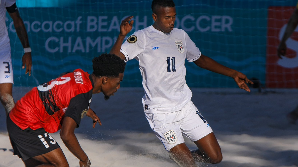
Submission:
M 124 73 L 126 63 L 115 54 L 103 53 L 92 60 L 93 74 L 97 77 L 119 77 Z

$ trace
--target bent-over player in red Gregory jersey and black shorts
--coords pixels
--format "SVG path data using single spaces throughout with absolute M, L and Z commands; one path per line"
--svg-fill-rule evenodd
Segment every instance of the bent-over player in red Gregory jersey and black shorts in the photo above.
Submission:
M 93 128 L 98 116 L 90 109 L 92 94 L 103 92 L 108 98 L 120 88 L 125 62 L 113 54 L 93 59 L 93 73 L 81 69 L 39 85 L 25 94 L 7 116 L 7 131 L 14 155 L 26 167 L 69 166 L 60 146 L 49 133 L 60 130 L 65 146 L 79 160 L 80 167 L 90 161 L 74 130 L 84 116 L 91 117 Z

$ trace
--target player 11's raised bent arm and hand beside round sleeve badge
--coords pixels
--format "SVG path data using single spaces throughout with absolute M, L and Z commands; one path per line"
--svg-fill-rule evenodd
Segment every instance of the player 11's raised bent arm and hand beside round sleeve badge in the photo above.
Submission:
M 113 53 L 117 56 L 119 56 L 121 59 L 126 60 L 125 56 L 123 55 L 123 53 L 120 52 L 121 49 L 121 45 L 123 43 L 123 40 L 125 38 L 125 36 L 131 31 L 132 29 L 132 25 L 134 24 L 134 21 L 131 20 L 134 16 L 128 16 L 127 18 L 125 18 L 124 20 L 121 21 L 120 24 L 120 33 L 119 36 L 115 42 L 115 44 L 113 45 L 110 53 Z

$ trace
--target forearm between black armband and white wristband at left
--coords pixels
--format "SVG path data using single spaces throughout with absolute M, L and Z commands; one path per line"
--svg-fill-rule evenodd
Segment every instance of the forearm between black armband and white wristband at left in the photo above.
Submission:
M 18 34 L 18 37 L 23 45 L 23 48 L 30 48 L 27 30 L 23 20 L 19 18 L 17 21 L 13 21 L 13 24 L 15 25 L 15 31 Z

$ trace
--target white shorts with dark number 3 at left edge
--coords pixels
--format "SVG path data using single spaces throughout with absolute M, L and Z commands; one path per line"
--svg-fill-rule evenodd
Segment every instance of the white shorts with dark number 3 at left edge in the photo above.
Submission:
M 13 83 L 13 65 L 10 51 L 0 53 L 0 83 Z

